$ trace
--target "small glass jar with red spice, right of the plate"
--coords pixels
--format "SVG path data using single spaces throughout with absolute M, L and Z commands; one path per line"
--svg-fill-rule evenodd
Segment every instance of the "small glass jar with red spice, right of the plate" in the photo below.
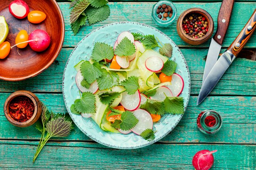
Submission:
M 215 110 L 204 110 L 198 115 L 197 125 L 204 134 L 213 134 L 220 130 L 222 118 Z

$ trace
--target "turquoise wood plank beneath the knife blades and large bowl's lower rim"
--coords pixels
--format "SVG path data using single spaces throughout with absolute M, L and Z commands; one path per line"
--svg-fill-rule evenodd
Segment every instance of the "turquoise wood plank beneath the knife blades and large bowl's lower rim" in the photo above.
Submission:
M 42 74 L 21 82 L 0 81 L 0 91 L 13 92 L 30 90 L 33 92 L 61 92 L 62 77 L 67 58 L 73 49 L 64 48 L 60 55 Z M 191 74 L 191 94 L 198 95 L 202 86 L 204 58 L 208 49 L 181 49 Z M 223 52 L 224 50 L 222 50 Z M 256 95 L 256 62 L 236 59 L 213 89 L 211 95 Z

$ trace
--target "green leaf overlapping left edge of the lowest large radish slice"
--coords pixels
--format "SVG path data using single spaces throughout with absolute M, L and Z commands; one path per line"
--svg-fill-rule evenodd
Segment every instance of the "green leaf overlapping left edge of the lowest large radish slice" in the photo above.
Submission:
M 130 111 L 125 111 L 121 115 L 122 123 L 120 124 L 121 130 L 130 130 L 137 125 L 139 120 Z

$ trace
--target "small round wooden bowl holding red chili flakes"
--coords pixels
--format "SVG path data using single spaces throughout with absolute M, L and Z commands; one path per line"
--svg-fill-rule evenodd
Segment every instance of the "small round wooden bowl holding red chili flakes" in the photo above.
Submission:
M 24 122 L 18 122 L 16 120 L 14 120 L 9 113 L 9 105 L 10 105 L 11 101 L 18 96 L 26 96 L 26 97 L 30 98 L 35 106 L 34 114 L 32 115 L 32 117 L 29 120 L 24 121 Z M 42 111 L 42 106 L 41 106 L 41 103 L 40 103 L 38 97 L 36 97 L 36 95 L 34 95 L 34 93 L 32 93 L 30 91 L 16 91 L 16 92 L 12 93 L 11 95 L 9 95 L 9 97 L 7 97 L 7 99 L 4 103 L 4 115 L 7 118 L 7 120 L 14 126 L 18 126 L 18 127 L 22 127 L 22 128 L 31 126 L 32 124 L 36 123 L 36 121 L 39 119 L 39 117 L 41 115 L 41 111 Z

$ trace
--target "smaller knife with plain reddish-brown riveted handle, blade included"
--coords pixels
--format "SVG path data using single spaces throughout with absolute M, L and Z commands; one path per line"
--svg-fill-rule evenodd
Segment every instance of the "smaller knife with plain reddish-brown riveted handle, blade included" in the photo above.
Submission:
M 209 51 L 206 58 L 206 63 L 204 67 L 203 82 L 206 79 L 207 75 L 211 71 L 211 68 L 218 60 L 222 42 L 227 33 L 229 27 L 229 21 L 231 18 L 231 13 L 234 7 L 235 0 L 223 0 L 220 6 L 220 11 L 218 15 L 218 26 L 217 31 L 213 38 L 211 38 L 211 44 L 209 46 Z

